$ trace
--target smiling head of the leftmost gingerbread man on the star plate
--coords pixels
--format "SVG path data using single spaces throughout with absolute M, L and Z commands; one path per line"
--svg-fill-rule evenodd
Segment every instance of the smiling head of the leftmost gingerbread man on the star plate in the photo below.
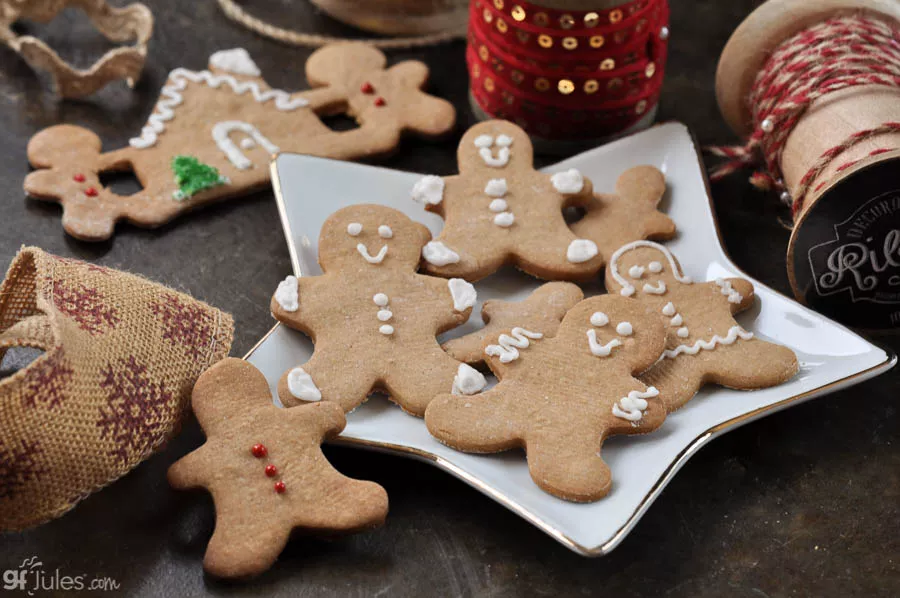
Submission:
M 428 229 L 402 212 L 361 204 L 328 217 L 319 238 L 319 264 L 325 271 L 418 267 Z

